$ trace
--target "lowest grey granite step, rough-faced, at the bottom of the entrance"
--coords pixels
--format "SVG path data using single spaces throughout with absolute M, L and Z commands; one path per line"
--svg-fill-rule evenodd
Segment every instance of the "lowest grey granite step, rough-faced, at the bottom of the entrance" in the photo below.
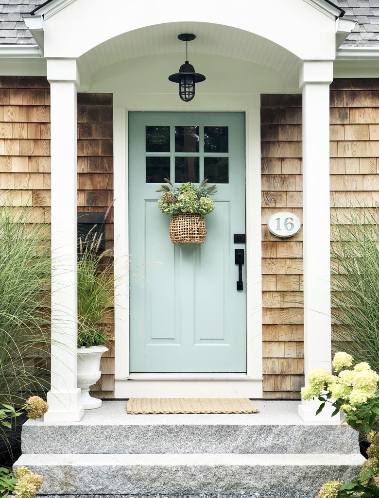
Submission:
M 357 454 L 71 454 L 22 455 L 43 475 L 40 494 L 207 494 L 306 492 L 331 479 L 351 481 Z

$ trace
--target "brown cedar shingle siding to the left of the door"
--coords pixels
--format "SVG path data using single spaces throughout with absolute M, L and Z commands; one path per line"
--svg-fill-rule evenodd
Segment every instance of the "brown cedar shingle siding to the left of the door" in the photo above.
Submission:
M 50 88 L 43 77 L 0 77 L 0 190 L 16 190 L 14 204 L 33 205 L 50 222 Z M 78 94 L 78 211 L 107 211 L 113 201 L 112 94 Z M 113 246 L 113 209 L 106 248 Z M 114 336 L 114 319 L 107 319 Z M 101 360 L 96 393 L 114 393 L 114 347 Z M 99 392 L 101 391 L 101 392 Z

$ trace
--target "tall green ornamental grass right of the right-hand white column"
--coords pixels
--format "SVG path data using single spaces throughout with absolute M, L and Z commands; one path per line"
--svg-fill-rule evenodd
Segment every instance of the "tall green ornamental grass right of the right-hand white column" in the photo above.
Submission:
M 379 372 L 379 210 L 350 206 L 337 213 L 331 226 L 334 348 Z

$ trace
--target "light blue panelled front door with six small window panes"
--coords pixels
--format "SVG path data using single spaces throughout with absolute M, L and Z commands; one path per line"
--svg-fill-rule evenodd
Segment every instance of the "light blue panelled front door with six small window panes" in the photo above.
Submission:
M 246 372 L 244 113 L 129 113 L 130 371 Z M 173 244 L 170 178 L 216 183 L 204 244 Z M 139 278 L 139 277 L 141 278 Z

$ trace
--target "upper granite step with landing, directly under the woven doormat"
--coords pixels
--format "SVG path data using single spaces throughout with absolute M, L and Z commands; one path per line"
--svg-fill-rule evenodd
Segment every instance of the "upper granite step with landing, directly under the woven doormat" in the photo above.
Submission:
M 346 425 L 304 422 L 296 401 L 256 401 L 257 414 L 127 415 L 125 402 L 103 402 L 80 422 L 28 420 L 24 454 L 359 453 Z

